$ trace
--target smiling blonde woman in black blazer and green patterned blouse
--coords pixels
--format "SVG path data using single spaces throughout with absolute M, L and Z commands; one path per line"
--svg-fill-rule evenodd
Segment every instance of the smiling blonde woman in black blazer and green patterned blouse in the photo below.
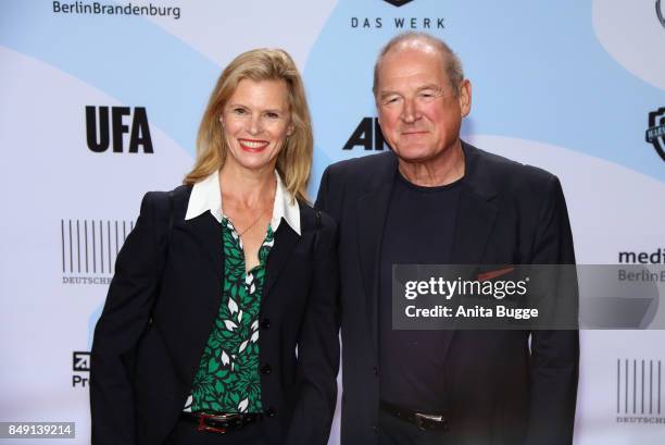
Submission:
M 149 193 L 95 331 L 93 444 L 325 444 L 336 403 L 332 220 L 305 201 L 291 58 L 222 73 L 185 185 Z

